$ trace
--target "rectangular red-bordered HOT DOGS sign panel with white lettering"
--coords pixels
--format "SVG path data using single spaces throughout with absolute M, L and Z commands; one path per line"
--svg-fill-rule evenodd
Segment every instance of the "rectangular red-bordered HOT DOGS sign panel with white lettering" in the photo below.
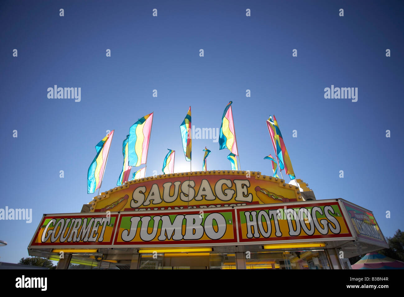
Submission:
M 351 237 L 337 201 L 237 209 L 240 242 Z

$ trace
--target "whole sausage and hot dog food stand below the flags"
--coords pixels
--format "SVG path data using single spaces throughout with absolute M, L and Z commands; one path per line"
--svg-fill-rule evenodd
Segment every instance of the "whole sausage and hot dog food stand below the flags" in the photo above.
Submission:
M 350 269 L 388 247 L 372 213 L 303 181 L 194 171 L 128 181 L 44 214 L 28 252 L 57 269 Z

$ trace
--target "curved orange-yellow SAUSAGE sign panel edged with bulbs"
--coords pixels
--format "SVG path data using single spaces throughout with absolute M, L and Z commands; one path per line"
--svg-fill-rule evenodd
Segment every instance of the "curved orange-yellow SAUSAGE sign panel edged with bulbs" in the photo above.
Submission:
M 186 172 L 129 181 L 96 196 L 91 212 L 153 211 L 304 201 L 283 179 L 249 171 Z

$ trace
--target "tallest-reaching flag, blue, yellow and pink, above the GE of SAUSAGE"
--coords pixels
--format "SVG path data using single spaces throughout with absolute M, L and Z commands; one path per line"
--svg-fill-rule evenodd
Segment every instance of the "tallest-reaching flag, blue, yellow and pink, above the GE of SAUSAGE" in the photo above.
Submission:
M 219 145 L 220 150 L 228 148 L 233 154 L 238 156 L 231 103 L 233 102 L 230 101 L 229 104 L 227 104 L 223 112 L 222 125 L 220 126 Z

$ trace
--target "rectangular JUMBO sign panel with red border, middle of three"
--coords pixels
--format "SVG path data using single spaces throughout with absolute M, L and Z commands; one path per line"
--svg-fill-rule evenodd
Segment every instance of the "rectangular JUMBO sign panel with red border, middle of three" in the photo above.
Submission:
M 114 244 L 236 242 L 234 211 L 122 214 Z

